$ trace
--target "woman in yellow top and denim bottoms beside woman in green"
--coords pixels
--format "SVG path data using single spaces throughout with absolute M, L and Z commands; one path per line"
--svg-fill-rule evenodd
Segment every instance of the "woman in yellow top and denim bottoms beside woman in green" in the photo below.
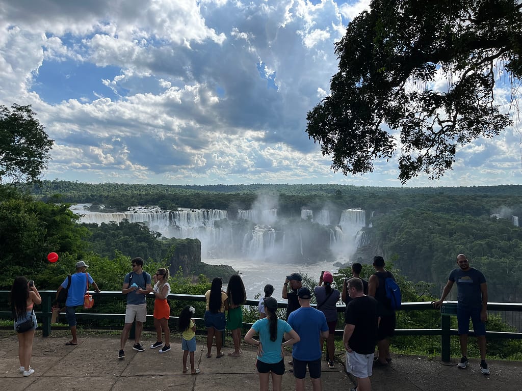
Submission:
M 207 307 L 205 311 L 205 327 L 207 328 L 207 358 L 212 357 L 212 339 L 216 336 L 216 358 L 224 356 L 221 351 L 221 334 L 223 333 L 227 320 L 225 310 L 228 310 L 228 296 L 221 289 L 223 281 L 216 277 L 212 280 L 210 290 L 205 293 Z

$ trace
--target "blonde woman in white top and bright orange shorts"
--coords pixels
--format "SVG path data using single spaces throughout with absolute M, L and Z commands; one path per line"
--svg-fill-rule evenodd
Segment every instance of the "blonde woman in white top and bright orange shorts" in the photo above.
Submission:
M 170 294 L 170 285 L 167 282 L 169 279 L 169 271 L 161 267 L 154 277 L 156 279 L 156 284 L 154 288 L 152 288 L 152 293 L 156 297 L 154 301 L 154 327 L 156 327 L 158 340 L 156 343 L 150 345 L 150 348 L 156 349 L 163 345 L 163 339 L 161 337 L 161 331 L 163 331 L 165 334 L 165 345 L 160 349 L 160 353 L 164 353 L 170 350 L 170 307 L 167 302 L 167 296 Z

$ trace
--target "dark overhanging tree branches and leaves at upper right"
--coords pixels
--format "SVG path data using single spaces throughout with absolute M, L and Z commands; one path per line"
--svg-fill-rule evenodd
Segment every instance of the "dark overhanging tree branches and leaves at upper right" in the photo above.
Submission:
M 339 72 L 307 133 L 345 175 L 400 150 L 403 183 L 440 178 L 458 146 L 511 124 L 494 92 L 500 74 L 522 76 L 521 9 L 518 0 L 373 0 L 336 44 Z

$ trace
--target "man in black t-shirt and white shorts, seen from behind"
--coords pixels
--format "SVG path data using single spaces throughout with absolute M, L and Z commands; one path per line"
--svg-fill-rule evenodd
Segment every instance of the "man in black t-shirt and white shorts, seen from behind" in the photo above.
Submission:
M 360 278 L 350 278 L 347 290 L 352 300 L 345 313 L 342 342 L 347 351 L 346 370 L 357 377 L 357 387 L 350 391 L 370 391 L 379 322 L 378 303 L 373 297 L 364 295 Z

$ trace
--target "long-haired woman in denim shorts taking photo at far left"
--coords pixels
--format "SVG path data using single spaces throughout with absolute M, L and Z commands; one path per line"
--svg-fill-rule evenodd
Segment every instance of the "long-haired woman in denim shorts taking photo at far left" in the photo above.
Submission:
M 34 373 L 31 368 L 32 355 L 32 341 L 34 338 L 34 330 L 38 324 L 36 315 L 33 311 L 34 304 L 40 304 L 42 298 L 32 281 L 28 282 L 26 277 L 16 277 L 11 287 L 10 294 L 11 310 L 15 317 L 15 331 L 16 327 L 23 322 L 30 319 L 33 321 L 33 326 L 26 332 L 16 333 L 18 337 L 18 358 L 20 360 L 20 372 L 23 376 L 30 376 Z

